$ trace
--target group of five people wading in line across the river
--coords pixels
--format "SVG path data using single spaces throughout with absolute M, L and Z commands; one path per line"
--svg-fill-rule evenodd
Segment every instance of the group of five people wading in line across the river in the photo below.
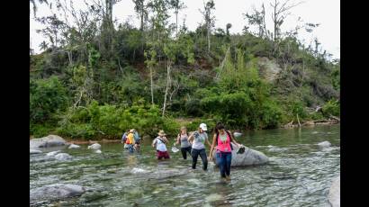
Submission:
M 226 130 L 221 122 L 218 122 L 215 127 L 215 133 L 212 137 L 212 142 L 208 139 L 207 126 L 205 123 L 201 123 L 198 130 L 193 131 L 191 134 L 187 132 L 185 127 L 181 127 L 180 133 L 177 135 L 174 145 L 180 144 L 181 153 L 184 159 L 187 159 L 187 153 L 192 157 L 192 168 L 196 168 L 197 158 L 200 156 L 202 159 L 202 169 L 204 171 L 208 168 L 208 157 L 205 151 L 205 142 L 209 145 L 209 159 L 212 159 L 213 150 L 215 152 L 216 163 L 220 168 L 220 176 L 223 180 L 230 180 L 230 163 L 232 160 L 231 150 L 233 149 L 231 142 L 233 142 L 238 148 L 242 145 L 233 138 L 229 130 Z M 125 148 L 128 148 L 130 152 L 136 147 L 135 133 L 138 136 L 136 130 L 129 130 L 127 139 L 125 141 Z M 157 138 L 152 142 L 152 147 L 157 149 L 157 159 L 170 158 L 166 149 L 166 133 L 164 130 L 159 130 Z M 124 135 L 123 135 L 124 137 Z M 139 146 L 139 145 L 138 145 Z M 139 147 L 138 147 L 139 148 Z

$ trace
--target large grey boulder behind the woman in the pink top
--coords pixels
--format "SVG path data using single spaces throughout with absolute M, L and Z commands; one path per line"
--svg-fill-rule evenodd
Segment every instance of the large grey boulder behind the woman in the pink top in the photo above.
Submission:
M 257 150 L 245 147 L 245 152 L 242 154 L 237 154 L 238 146 L 231 143 L 232 150 L 232 161 L 230 166 L 256 166 L 263 165 L 269 161 L 269 158 L 262 152 Z M 212 157 L 214 163 L 216 163 L 215 159 L 216 150 L 213 150 Z

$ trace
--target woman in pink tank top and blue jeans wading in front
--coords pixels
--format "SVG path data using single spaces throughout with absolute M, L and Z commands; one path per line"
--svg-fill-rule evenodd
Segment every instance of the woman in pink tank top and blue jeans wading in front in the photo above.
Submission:
M 229 130 L 225 130 L 222 123 L 218 123 L 215 129 L 215 134 L 212 138 L 212 145 L 210 149 L 209 157 L 212 159 L 212 150 L 215 148 L 217 151 L 215 153 L 215 158 L 217 165 L 220 168 L 220 177 L 223 180 L 230 180 L 230 164 L 232 161 L 232 145 L 233 142 L 238 147 L 241 145 L 233 139 Z

